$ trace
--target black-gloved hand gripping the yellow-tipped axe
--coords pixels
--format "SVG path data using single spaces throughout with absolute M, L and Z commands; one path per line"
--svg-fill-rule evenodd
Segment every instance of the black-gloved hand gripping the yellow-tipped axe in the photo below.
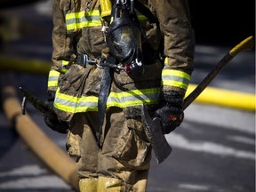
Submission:
M 164 134 L 174 131 L 182 123 L 183 101 L 179 92 L 164 92 L 161 107 L 156 110 L 156 116 L 161 118 Z

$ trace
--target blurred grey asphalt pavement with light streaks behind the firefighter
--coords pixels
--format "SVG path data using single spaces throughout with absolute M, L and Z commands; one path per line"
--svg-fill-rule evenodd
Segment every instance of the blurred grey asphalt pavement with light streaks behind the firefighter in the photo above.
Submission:
M 42 60 L 51 58 L 50 3 L 46 1 L 3 12 L 4 16 L 12 15 L 12 25 L 8 25 L 8 28 L 12 28 L 13 33 L 6 38 L 2 54 Z M 200 83 L 230 48 L 225 44 L 196 44 L 195 71 L 191 83 Z M 254 57 L 254 51 L 241 52 L 210 86 L 254 94 Z M 2 83 L 4 73 L 2 71 L 0 74 Z M 18 87 L 22 86 L 45 99 L 46 76 L 12 71 L 12 77 L 17 92 Z M 43 116 L 29 104 L 28 114 L 65 150 L 65 135 L 46 127 Z M 3 110 L 0 111 L 0 130 L 0 191 L 74 191 L 20 139 Z M 172 154 L 162 164 L 156 164 L 153 155 L 148 192 L 255 191 L 254 111 L 194 102 L 186 109 L 181 126 L 166 135 L 166 139 L 172 146 Z

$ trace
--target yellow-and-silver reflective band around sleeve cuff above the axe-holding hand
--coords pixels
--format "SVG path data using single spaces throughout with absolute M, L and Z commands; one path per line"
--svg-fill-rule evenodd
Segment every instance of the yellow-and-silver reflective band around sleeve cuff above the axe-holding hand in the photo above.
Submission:
M 190 75 L 180 70 L 164 68 L 162 71 L 163 85 L 175 86 L 187 90 L 190 78 Z

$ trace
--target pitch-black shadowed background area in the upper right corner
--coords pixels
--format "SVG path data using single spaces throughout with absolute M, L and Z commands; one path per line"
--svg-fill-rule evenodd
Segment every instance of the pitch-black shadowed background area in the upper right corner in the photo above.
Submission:
M 255 1 L 188 1 L 197 44 L 232 46 L 255 34 Z

